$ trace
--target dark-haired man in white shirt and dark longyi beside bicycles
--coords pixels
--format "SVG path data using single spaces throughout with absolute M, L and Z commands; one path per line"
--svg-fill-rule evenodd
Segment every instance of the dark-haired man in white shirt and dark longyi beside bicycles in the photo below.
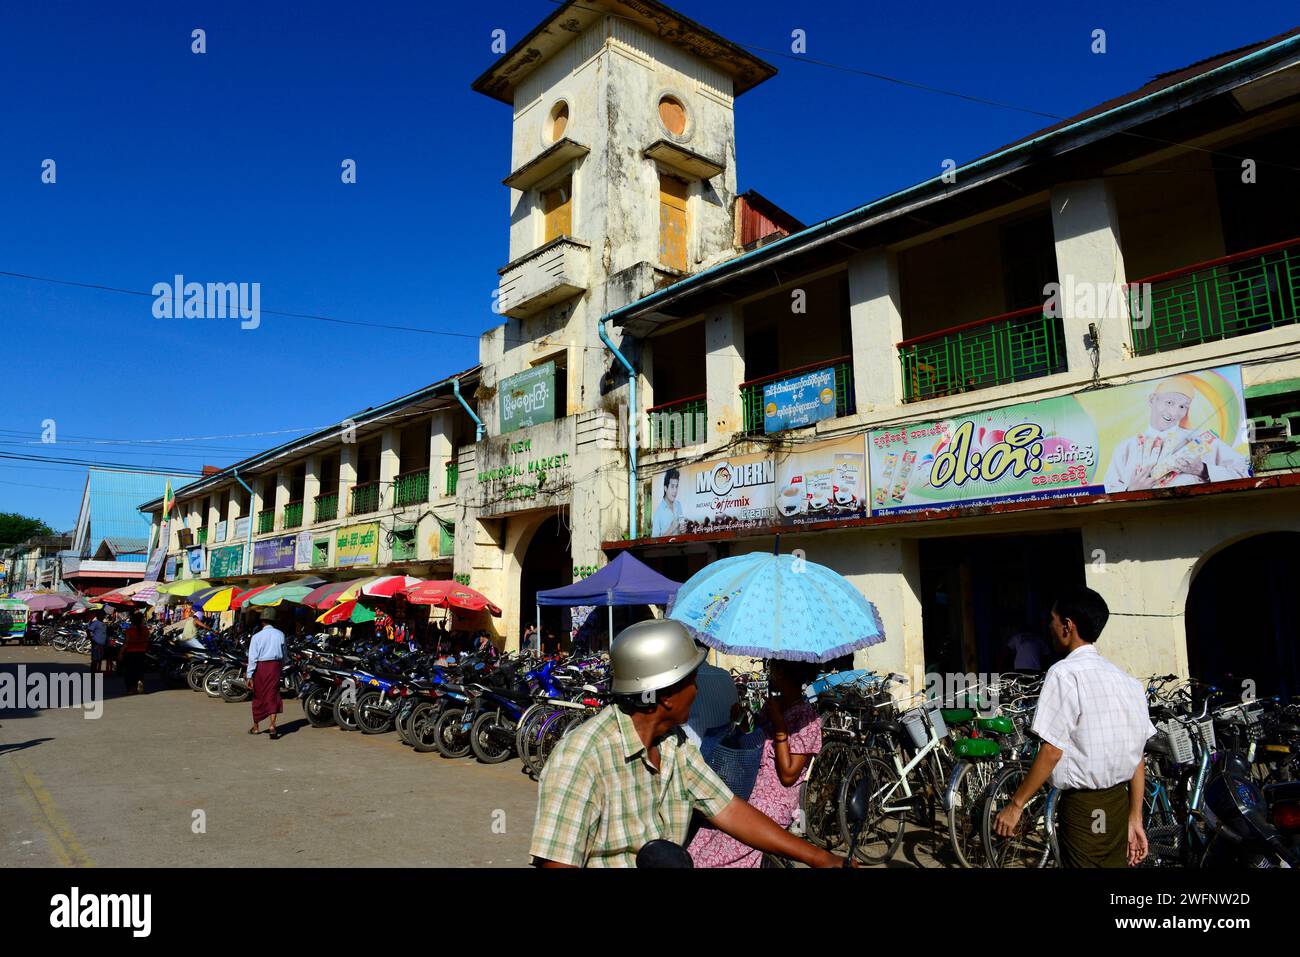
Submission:
M 1061 796 L 1057 841 L 1065 867 L 1123 867 L 1147 857 L 1143 750 L 1156 733 L 1141 683 L 1100 654 L 1110 611 L 1075 588 L 1052 607 L 1052 637 L 1066 657 L 1048 670 L 1032 731 L 1039 754 L 994 830 L 1011 836 L 1024 804 L 1050 778 Z

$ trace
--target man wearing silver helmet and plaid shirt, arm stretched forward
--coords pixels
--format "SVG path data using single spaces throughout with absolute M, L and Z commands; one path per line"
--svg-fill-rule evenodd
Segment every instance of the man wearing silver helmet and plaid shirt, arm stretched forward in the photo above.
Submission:
M 685 844 L 692 811 L 751 848 L 812 867 L 844 859 L 796 837 L 723 784 L 681 731 L 705 659 L 685 625 L 641 622 L 610 649 L 615 703 L 542 771 L 529 853 L 542 867 L 632 867 L 655 840 Z

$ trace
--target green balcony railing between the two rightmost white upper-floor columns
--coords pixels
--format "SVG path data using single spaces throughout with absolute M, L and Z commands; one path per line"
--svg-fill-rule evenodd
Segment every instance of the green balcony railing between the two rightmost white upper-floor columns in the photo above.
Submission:
M 958 395 L 1066 371 L 1061 320 L 1041 306 L 898 343 L 905 402 Z

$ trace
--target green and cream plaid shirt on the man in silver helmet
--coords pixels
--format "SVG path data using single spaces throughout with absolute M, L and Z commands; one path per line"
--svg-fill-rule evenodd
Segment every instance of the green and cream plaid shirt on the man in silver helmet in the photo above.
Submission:
M 634 867 L 644 844 L 685 844 L 693 810 L 712 818 L 731 800 L 680 731 L 659 741 L 655 770 L 632 719 L 611 705 L 546 762 L 529 853 L 578 867 Z

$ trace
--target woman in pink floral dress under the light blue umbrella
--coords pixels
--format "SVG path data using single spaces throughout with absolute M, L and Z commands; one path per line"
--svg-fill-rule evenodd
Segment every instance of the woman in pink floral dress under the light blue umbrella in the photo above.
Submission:
M 800 806 L 800 784 L 809 762 L 822 750 L 822 719 L 803 698 L 803 685 L 820 668 L 803 662 L 771 663 L 772 696 L 763 709 L 763 759 L 749 802 L 781 827 L 789 827 Z M 686 848 L 696 867 L 760 867 L 763 852 L 705 824 Z

